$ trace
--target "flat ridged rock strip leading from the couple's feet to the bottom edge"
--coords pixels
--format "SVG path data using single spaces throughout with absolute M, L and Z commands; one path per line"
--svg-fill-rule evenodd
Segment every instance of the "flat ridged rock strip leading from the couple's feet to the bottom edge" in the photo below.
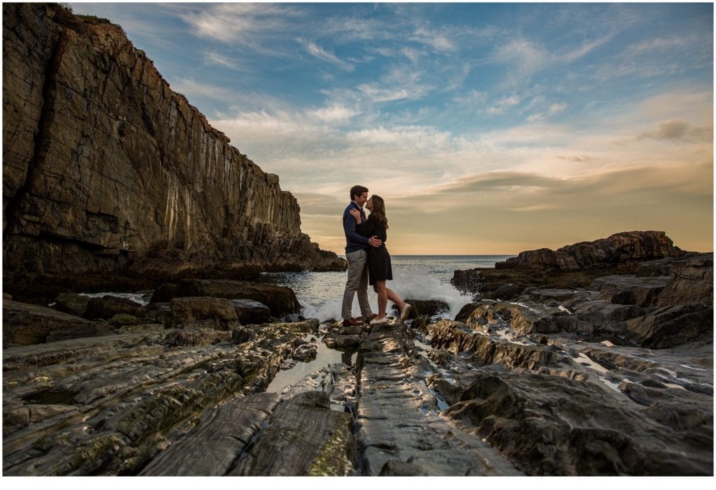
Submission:
M 357 441 L 364 474 L 520 474 L 479 436 L 440 416 L 420 357 L 410 356 L 411 341 L 402 327 L 374 326 L 363 345 Z

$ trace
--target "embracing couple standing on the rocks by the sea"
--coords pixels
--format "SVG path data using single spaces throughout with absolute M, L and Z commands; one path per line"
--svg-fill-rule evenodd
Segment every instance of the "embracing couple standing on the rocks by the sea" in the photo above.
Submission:
M 365 215 L 364 206 L 370 211 L 369 217 Z M 343 293 L 341 312 L 345 326 L 388 323 L 385 309 L 389 299 L 400 308 L 400 321 L 405 321 L 410 313 L 410 305 L 386 286 L 386 281 L 393 278 L 390 254 L 385 248 L 387 228 L 388 220 L 385 217 L 385 204 L 382 197 L 373 195 L 368 199 L 367 187 L 362 185 L 352 187 L 351 202 L 343 212 L 346 260 L 348 260 L 348 280 Z M 377 314 L 372 312 L 368 303 L 368 285 L 372 285 L 378 295 Z M 355 293 L 358 293 L 363 321 L 353 318 L 351 313 Z

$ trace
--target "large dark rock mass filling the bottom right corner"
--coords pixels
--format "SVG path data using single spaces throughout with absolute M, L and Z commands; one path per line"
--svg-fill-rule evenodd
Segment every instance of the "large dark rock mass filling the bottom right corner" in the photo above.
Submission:
M 594 383 L 479 370 L 446 415 L 478 428 L 531 475 L 709 474 L 707 438 L 666 442 L 637 403 Z M 690 431 L 695 433 L 695 431 Z M 699 448 L 705 453 L 699 454 Z M 684 451 L 691 456 L 686 456 Z M 648 455 L 648 456 L 647 456 Z

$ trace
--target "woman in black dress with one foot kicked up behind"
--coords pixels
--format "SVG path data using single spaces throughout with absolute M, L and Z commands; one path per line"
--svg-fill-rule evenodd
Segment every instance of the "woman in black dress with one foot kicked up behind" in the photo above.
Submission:
M 378 315 L 370 320 L 370 324 L 388 323 L 385 308 L 389 299 L 400 308 L 400 321 L 404 322 L 411 306 L 400 299 L 400 296 L 395 291 L 385 285 L 386 280 L 392 280 L 393 278 L 390 253 L 385 248 L 385 240 L 387 240 L 385 230 L 388 229 L 388 219 L 385 217 L 385 202 L 382 197 L 374 195 L 366 202 L 365 207 L 370 211 L 370 216 L 365 222 L 361 222 L 358 210 L 351 210 L 350 212 L 356 220 L 357 231 L 364 237 L 377 236 L 380 240 L 383 240 L 382 245 L 371 247 L 368 250 L 368 283 L 373 286 L 378 295 Z

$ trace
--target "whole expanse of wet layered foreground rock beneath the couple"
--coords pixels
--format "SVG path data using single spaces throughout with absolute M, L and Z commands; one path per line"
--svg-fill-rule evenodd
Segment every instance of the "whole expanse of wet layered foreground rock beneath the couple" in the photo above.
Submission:
M 372 327 L 4 297 L 3 472 L 712 475 L 712 255 L 639 270 Z

